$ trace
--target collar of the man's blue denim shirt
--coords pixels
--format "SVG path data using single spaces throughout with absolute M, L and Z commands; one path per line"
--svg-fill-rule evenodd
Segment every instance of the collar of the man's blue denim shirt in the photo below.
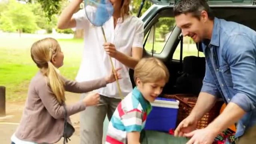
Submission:
M 203 43 L 207 45 L 208 40 L 203 40 Z M 213 22 L 213 33 L 211 34 L 210 45 L 220 45 L 220 19 L 214 18 Z

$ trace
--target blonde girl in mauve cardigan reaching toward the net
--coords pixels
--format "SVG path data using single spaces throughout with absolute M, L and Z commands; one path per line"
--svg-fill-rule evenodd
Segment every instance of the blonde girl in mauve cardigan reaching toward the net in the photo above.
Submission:
M 31 58 L 39 71 L 30 82 L 21 122 L 11 138 L 12 144 L 57 143 L 64 130 L 65 91 L 89 92 L 114 82 L 115 77 L 111 73 L 110 76 L 87 82 L 65 79 L 58 71 L 63 65 L 64 55 L 57 40 L 52 38 L 35 42 L 31 46 Z M 67 115 L 96 105 L 99 99 L 98 93 L 91 93 L 82 101 L 66 105 Z

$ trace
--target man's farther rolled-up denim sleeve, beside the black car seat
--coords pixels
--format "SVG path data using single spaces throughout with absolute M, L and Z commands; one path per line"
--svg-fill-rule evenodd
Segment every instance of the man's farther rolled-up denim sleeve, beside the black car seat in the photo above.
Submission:
M 205 64 L 205 67 L 206 67 L 205 68 L 205 76 L 204 76 L 201 92 L 206 92 L 208 94 L 211 94 L 211 95 L 219 98 L 220 93 L 219 93 L 219 90 L 214 82 L 213 76 L 210 73 L 207 62 Z

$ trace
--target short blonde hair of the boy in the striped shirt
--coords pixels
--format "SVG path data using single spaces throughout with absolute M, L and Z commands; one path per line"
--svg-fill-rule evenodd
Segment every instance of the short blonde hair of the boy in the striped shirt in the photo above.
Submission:
M 162 61 L 157 58 L 142 58 L 134 68 L 134 81 L 139 78 L 141 82 L 157 82 L 169 80 L 169 71 Z

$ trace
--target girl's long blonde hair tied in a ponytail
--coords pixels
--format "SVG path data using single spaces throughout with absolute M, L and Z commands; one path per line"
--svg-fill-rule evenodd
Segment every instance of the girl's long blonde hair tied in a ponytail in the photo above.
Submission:
M 38 40 L 31 46 L 31 58 L 47 78 L 47 83 L 50 85 L 58 102 L 62 104 L 65 101 L 65 83 L 57 68 L 51 62 L 51 59 L 60 51 L 59 43 L 52 38 Z

